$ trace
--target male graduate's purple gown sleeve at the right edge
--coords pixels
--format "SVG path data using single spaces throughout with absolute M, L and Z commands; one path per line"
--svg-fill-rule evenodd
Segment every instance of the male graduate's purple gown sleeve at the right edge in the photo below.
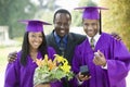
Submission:
M 121 41 L 113 40 L 112 58 L 107 60 L 110 87 L 121 87 L 130 70 L 130 52 Z

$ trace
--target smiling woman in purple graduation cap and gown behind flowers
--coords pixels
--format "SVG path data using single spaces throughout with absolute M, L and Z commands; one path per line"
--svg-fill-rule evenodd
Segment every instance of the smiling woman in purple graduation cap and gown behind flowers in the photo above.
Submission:
M 22 50 L 17 59 L 9 63 L 5 71 L 4 87 L 34 87 L 34 73 L 38 66 L 36 59 L 43 59 L 48 54 L 52 60 L 55 51 L 47 47 L 42 25 L 50 25 L 41 21 L 21 21 L 27 24 Z M 58 83 L 50 83 L 42 87 L 61 87 Z M 40 86 L 41 87 L 41 86 Z

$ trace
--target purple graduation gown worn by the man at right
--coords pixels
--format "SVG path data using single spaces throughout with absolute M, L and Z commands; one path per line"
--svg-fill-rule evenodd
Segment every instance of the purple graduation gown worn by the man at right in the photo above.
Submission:
M 107 70 L 95 65 L 92 60 L 94 52 L 100 50 L 107 61 Z M 126 87 L 126 76 L 130 70 L 130 52 L 121 41 L 110 35 L 102 33 L 95 49 L 92 50 L 88 39 L 76 47 L 73 59 L 73 71 L 77 74 L 79 66 L 88 65 L 91 78 L 80 87 Z M 77 83 L 77 79 L 74 79 Z M 77 84 L 73 87 L 77 87 Z

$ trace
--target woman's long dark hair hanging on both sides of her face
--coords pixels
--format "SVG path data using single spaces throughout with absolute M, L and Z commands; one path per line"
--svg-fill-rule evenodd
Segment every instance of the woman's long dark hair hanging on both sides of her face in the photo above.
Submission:
M 25 33 L 24 35 L 24 41 L 22 45 L 22 55 L 21 55 L 21 63 L 23 65 L 27 64 L 27 55 L 29 55 L 29 41 L 28 41 L 28 32 Z M 38 48 L 38 51 L 40 51 L 42 58 L 44 58 L 44 54 L 48 54 L 48 49 L 47 49 L 47 40 L 46 36 L 42 32 L 42 44 Z

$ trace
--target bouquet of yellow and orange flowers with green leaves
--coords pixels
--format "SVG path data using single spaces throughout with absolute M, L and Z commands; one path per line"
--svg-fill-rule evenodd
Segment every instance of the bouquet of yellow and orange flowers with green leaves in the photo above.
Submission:
M 38 67 L 35 71 L 34 85 L 61 80 L 63 77 L 67 77 L 68 80 L 73 78 L 74 73 L 70 71 L 68 61 L 58 54 L 54 57 L 53 61 L 47 54 L 43 60 L 36 60 Z

